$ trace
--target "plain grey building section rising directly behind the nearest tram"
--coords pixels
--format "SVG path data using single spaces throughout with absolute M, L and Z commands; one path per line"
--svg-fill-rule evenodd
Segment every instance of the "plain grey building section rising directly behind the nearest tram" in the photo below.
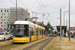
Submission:
M 28 13 L 28 11 L 26 11 L 23 8 L 17 8 L 17 17 L 16 17 L 16 8 L 10 8 L 10 24 L 13 24 L 15 21 L 31 21 L 32 19 L 29 18 L 30 13 Z M 17 19 L 16 19 L 17 18 Z

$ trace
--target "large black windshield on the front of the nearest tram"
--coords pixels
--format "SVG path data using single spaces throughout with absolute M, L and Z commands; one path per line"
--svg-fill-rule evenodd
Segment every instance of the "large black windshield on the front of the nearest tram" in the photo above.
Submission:
M 17 37 L 28 36 L 28 25 L 15 25 L 13 35 Z

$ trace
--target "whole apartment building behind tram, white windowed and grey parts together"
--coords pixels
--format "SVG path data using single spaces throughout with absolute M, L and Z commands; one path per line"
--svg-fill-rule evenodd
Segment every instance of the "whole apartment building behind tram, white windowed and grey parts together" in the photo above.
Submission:
M 32 18 L 29 17 L 30 13 L 23 9 L 17 8 L 17 21 L 30 21 L 32 22 Z M 7 24 L 13 24 L 16 21 L 16 8 L 0 9 L 0 29 L 6 30 Z M 10 28 L 9 28 L 10 29 Z

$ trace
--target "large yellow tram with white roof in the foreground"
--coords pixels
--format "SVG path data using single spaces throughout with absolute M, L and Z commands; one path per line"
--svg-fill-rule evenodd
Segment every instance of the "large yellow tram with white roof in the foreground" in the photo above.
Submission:
M 45 28 L 29 21 L 14 23 L 13 43 L 26 43 L 45 38 Z

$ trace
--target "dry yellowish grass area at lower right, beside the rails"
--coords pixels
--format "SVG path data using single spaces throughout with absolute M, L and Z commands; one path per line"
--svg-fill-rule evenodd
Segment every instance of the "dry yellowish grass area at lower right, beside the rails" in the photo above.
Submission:
M 75 50 L 75 39 L 55 37 L 43 50 Z

